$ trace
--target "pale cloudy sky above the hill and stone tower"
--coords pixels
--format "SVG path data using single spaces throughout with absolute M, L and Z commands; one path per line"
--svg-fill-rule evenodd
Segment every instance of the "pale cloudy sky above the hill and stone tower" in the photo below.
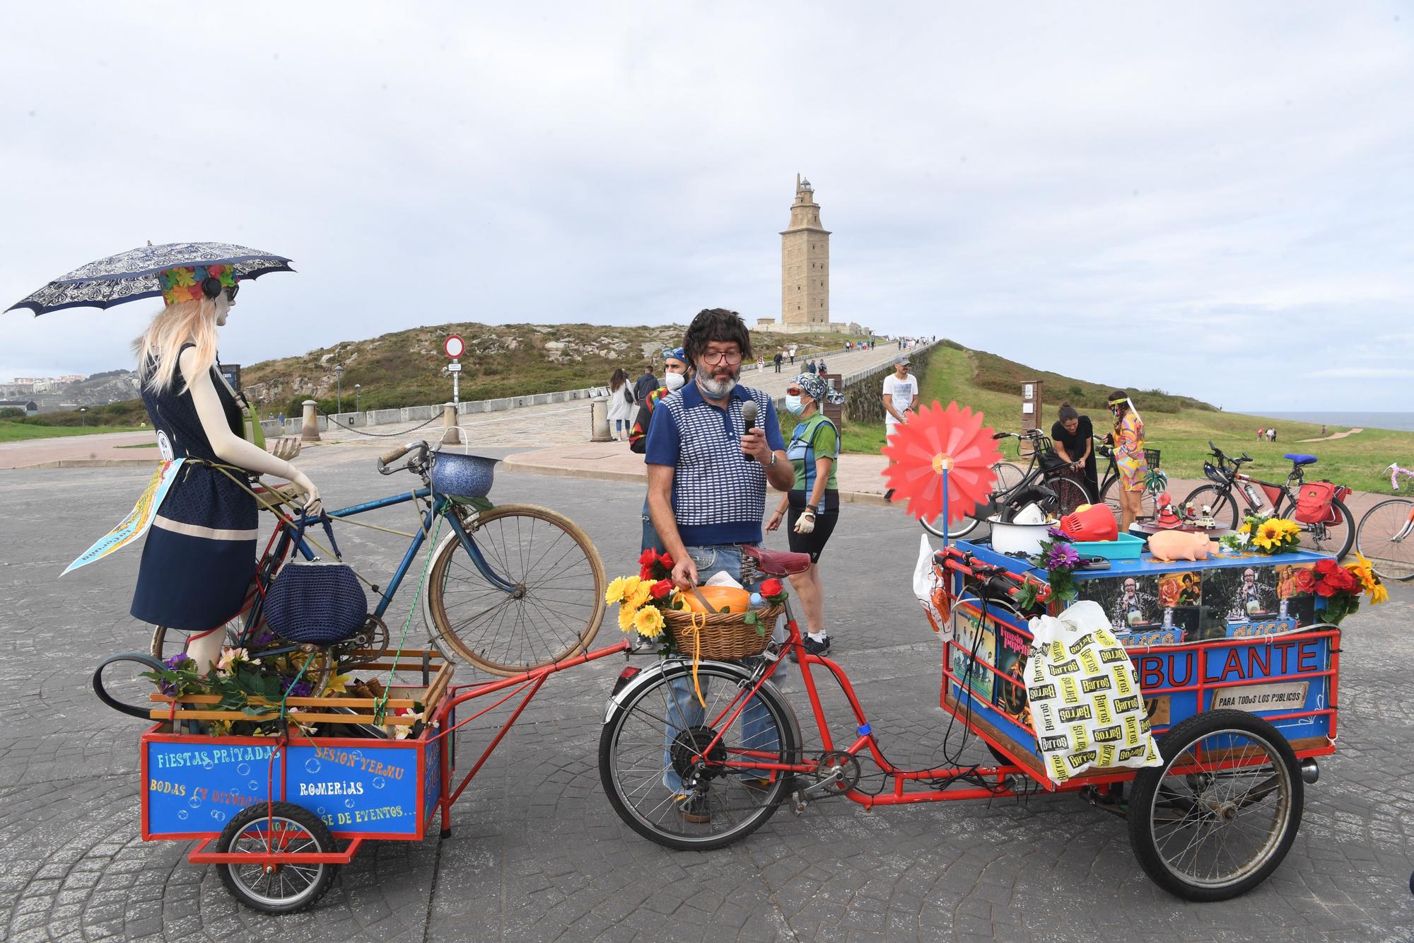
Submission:
M 981 8 L 986 7 L 986 8 Z M 1247 409 L 1408 409 L 1414 6 L 8 4 L 0 307 L 144 241 L 298 275 L 252 362 L 448 320 L 831 307 Z M 0 379 L 127 365 L 150 302 L 0 316 Z

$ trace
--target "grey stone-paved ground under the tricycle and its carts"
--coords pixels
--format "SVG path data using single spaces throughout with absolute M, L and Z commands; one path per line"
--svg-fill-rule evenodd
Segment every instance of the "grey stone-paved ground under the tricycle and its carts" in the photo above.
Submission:
M 339 504 L 404 484 L 378 477 L 363 450 L 314 449 L 301 463 Z M 147 629 L 126 615 L 137 551 L 58 579 L 132 507 L 146 477 L 141 469 L 0 473 L 0 937 L 1414 939 L 1414 593 L 1404 588 L 1346 623 L 1340 750 L 1307 787 L 1282 867 L 1237 901 L 1192 905 L 1158 891 L 1124 823 L 1073 796 L 875 813 L 837 799 L 799 818 L 781 810 L 721 851 L 667 851 L 624 825 L 600 787 L 602 705 L 622 664 L 607 658 L 549 681 L 455 806 L 451 838 L 375 842 L 312 912 L 257 915 L 228 896 L 214 869 L 187 864 L 187 842 L 137 837 L 141 724 L 109 712 L 88 687 L 102 656 L 146 646 Z M 573 517 L 611 572 L 632 568 L 641 494 L 633 484 L 529 474 L 503 474 L 493 491 Z M 380 514 L 406 527 L 406 507 Z M 345 532 L 361 565 L 393 566 L 397 538 Z M 836 657 L 899 765 L 935 759 L 949 726 L 937 707 L 939 644 L 909 595 L 916 547 L 916 527 L 896 510 L 850 505 L 823 561 Z M 807 721 L 799 680 L 788 691 Z M 843 722 L 841 707 L 827 697 Z M 468 728 L 461 755 L 485 743 L 501 716 Z M 986 758 L 976 743 L 963 755 Z

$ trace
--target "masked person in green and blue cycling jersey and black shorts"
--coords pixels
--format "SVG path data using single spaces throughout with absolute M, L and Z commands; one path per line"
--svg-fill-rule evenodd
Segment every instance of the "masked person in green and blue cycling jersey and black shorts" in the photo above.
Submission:
M 786 457 L 790 459 L 796 479 L 781 500 L 781 507 L 766 521 L 766 530 L 775 531 L 789 514 L 786 538 L 790 541 L 790 551 L 810 555 L 810 569 L 792 576 L 790 585 L 800 593 L 809 627 L 805 650 L 814 656 L 830 651 L 830 636 L 824 631 L 820 554 L 840 517 L 840 486 L 834 480 L 840 432 L 820 412 L 824 402 L 844 402 L 844 395 L 812 374 L 800 374 L 786 388 L 786 412 L 800 419 L 786 445 Z M 793 651 L 790 654 L 796 657 Z

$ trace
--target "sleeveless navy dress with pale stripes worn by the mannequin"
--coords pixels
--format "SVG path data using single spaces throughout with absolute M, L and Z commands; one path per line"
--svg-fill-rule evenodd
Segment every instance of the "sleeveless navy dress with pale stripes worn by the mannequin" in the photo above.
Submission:
M 195 347 L 195 344 L 187 344 Z M 148 370 L 154 368 L 148 364 Z M 245 418 L 225 378 L 211 368 L 226 413 L 238 436 Z M 178 389 L 182 392 L 178 394 Z M 163 498 L 137 571 L 132 613 L 143 622 L 187 631 L 221 626 L 240 610 L 246 588 L 255 575 L 256 500 L 218 469 L 221 463 L 201 428 L 197 405 L 185 391 L 181 368 L 170 389 L 143 389 L 143 405 L 153 421 L 158 443 L 170 446 L 173 457 L 199 459 L 182 464 L 177 481 Z M 163 447 L 167 457 L 168 447 Z M 242 471 L 232 471 L 238 479 Z

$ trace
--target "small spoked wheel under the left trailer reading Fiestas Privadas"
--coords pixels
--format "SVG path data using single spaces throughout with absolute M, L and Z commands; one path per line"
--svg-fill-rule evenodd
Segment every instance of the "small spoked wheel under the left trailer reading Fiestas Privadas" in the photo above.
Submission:
M 267 841 L 269 840 L 269 841 Z M 294 803 L 256 803 L 230 820 L 216 851 L 222 854 L 264 854 L 270 847 L 288 854 L 335 851 L 334 835 L 318 816 Z M 324 896 L 334 882 L 332 864 L 223 864 L 216 865 L 221 882 L 232 896 L 253 910 L 294 913 Z

